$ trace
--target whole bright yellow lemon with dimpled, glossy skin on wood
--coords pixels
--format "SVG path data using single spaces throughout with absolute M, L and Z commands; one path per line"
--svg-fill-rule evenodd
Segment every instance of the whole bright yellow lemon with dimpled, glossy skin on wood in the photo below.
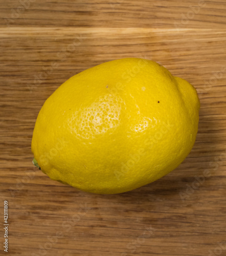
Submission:
M 91 193 L 123 193 L 187 157 L 199 106 L 194 87 L 154 61 L 105 62 L 71 77 L 46 100 L 32 152 L 53 180 Z

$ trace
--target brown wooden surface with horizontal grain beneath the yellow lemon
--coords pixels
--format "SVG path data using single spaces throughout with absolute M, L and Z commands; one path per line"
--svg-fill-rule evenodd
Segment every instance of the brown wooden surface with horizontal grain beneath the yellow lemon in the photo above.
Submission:
M 0 2 L 0 254 L 226 255 L 225 1 Z M 155 60 L 197 89 L 193 150 L 174 172 L 124 194 L 52 181 L 32 165 L 42 104 L 69 77 L 124 57 Z

